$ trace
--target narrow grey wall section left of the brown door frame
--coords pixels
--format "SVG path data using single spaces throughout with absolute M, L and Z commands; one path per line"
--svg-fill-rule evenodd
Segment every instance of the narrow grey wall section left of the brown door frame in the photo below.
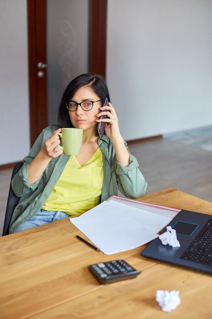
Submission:
M 29 151 L 26 0 L 0 1 L 0 165 Z

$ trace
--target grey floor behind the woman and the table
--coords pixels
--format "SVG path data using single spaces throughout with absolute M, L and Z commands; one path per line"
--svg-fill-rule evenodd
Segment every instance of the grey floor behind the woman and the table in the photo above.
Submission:
M 207 134 L 203 131 L 180 132 L 129 145 L 148 182 L 146 194 L 172 187 L 212 202 L 212 127 L 206 128 Z M 11 174 L 12 169 L 0 170 L 0 235 Z

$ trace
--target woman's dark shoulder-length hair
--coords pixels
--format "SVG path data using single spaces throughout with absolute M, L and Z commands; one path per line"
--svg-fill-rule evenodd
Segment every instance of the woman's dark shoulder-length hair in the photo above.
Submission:
M 102 100 L 102 103 L 104 103 L 106 97 L 110 101 L 107 83 L 101 75 L 91 75 L 84 73 L 75 77 L 67 86 L 59 104 L 57 117 L 60 127 L 73 127 L 69 117 L 69 110 L 67 109 L 66 105 L 67 102 L 73 98 L 76 91 L 84 86 L 89 87 L 95 94 L 97 94 Z

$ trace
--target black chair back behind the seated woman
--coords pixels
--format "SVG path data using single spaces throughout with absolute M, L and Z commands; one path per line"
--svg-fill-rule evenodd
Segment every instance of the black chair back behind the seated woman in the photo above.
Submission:
M 21 168 L 21 166 L 23 165 L 23 162 L 18 162 L 14 168 L 13 168 L 13 172 L 12 172 L 12 178 L 14 177 L 14 175 L 19 171 L 19 169 Z M 6 208 L 6 213 L 5 213 L 5 223 L 4 223 L 4 228 L 3 228 L 3 233 L 2 235 L 8 235 L 9 234 L 9 226 L 10 226 L 10 221 L 13 215 L 13 211 L 15 206 L 18 204 L 20 197 L 17 197 L 11 187 L 11 182 L 10 182 L 10 190 L 9 190 L 9 195 L 8 195 L 8 200 L 7 200 L 7 208 Z

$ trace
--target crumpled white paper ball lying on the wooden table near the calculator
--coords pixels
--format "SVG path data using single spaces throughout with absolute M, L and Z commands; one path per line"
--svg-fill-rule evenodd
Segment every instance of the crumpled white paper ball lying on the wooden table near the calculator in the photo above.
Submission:
M 179 291 L 157 290 L 156 301 L 163 311 L 171 311 L 180 304 Z

